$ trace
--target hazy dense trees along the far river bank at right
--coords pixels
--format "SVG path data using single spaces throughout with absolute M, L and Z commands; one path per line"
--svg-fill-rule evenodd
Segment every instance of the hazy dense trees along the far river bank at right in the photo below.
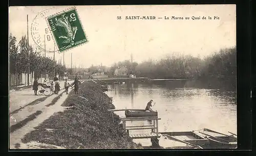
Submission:
M 110 75 L 119 66 L 125 66 L 128 74 L 151 79 L 232 79 L 236 81 L 236 47 L 220 51 L 201 59 L 191 55 L 173 54 L 160 60 L 147 60 L 140 64 L 125 60 L 110 68 Z

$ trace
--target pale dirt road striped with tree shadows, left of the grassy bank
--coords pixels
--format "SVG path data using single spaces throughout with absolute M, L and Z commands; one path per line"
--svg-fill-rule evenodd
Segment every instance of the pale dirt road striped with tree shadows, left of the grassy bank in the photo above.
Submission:
M 73 81 L 69 81 L 72 83 Z M 83 82 L 83 81 L 82 81 Z M 61 104 L 68 95 L 62 87 L 64 81 L 60 82 L 61 90 L 59 94 L 50 96 L 33 95 L 31 88 L 10 93 L 10 148 L 33 148 L 39 146 L 35 143 L 23 144 L 20 139 L 27 133 L 33 131 L 34 127 L 49 118 L 55 112 L 65 110 Z M 69 89 L 69 92 L 74 88 Z M 45 146 L 45 145 L 44 145 Z M 35 147 L 38 148 L 38 147 Z M 58 147 L 61 148 L 61 147 Z

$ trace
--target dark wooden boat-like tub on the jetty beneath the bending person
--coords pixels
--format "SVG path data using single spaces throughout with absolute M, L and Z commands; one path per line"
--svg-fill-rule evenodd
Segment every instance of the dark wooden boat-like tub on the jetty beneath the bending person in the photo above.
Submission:
M 126 117 L 148 117 L 148 116 L 158 116 L 157 112 L 151 111 L 146 112 L 145 110 L 125 110 Z

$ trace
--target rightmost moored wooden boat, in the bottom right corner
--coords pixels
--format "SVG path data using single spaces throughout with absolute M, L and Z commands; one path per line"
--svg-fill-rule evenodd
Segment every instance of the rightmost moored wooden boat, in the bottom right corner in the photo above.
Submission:
M 209 140 L 209 148 L 237 148 L 237 135 L 226 135 L 204 128 L 198 131 Z

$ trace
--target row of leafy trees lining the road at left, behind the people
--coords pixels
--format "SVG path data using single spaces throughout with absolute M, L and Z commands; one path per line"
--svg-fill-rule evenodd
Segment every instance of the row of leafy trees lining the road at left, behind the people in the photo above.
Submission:
M 40 74 L 63 75 L 66 71 L 65 66 L 57 63 L 55 60 L 44 57 L 36 52 L 31 45 L 28 47 L 28 39 L 22 36 L 19 42 L 16 37 L 10 34 L 9 37 L 9 64 L 11 74 L 28 73 L 28 62 L 30 63 L 30 72 L 35 72 L 35 76 Z

